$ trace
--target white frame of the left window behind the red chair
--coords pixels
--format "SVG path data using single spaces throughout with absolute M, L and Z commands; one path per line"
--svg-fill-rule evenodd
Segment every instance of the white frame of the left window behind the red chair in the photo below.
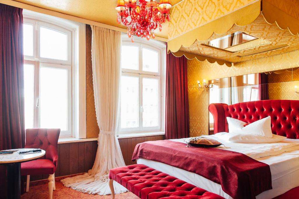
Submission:
M 23 10 L 24 23 L 33 24 L 33 56 L 24 56 L 24 63 L 33 64 L 34 128 L 39 128 L 39 67 L 56 67 L 68 70 L 68 132 L 60 132 L 60 138 L 86 138 L 86 37 L 85 24 L 62 18 Z M 39 56 L 39 27 L 58 30 L 68 35 L 67 60 Z M 79 106 L 80 104 L 80 106 Z

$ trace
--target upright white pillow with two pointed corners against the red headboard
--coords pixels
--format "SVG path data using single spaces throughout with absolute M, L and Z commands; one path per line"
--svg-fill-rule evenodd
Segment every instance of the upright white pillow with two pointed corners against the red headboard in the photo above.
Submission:
M 245 124 L 247 124 L 246 122 L 229 117 L 226 119 L 230 133 L 247 133 L 272 138 L 270 116 L 248 124 L 247 126 L 245 126 Z

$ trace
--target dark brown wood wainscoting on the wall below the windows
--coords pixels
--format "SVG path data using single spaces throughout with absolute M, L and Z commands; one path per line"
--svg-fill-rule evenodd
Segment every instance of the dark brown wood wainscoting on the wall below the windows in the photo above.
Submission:
M 135 164 L 132 162 L 132 155 L 136 144 L 164 140 L 164 135 L 120 138 L 118 139 L 123 159 L 126 165 Z M 92 168 L 97 153 L 97 141 L 74 142 L 58 144 L 58 165 L 55 177 L 73 175 L 88 172 Z M 48 175 L 32 175 L 30 181 L 47 179 Z

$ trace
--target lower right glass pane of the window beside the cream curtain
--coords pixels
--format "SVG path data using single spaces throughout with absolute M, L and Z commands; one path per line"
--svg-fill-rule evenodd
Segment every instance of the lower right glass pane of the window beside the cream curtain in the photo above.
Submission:
M 143 78 L 143 127 L 159 126 L 159 80 Z

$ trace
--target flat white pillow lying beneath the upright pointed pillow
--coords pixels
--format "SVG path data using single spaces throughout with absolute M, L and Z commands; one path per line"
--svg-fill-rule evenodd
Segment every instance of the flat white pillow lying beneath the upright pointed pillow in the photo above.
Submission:
M 233 143 L 276 143 L 286 139 L 284 136 L 273 134 L 272 138 L 267 138 L 254 134 L 247 133 L 216 133 L 214 136 L 222 140 Z

